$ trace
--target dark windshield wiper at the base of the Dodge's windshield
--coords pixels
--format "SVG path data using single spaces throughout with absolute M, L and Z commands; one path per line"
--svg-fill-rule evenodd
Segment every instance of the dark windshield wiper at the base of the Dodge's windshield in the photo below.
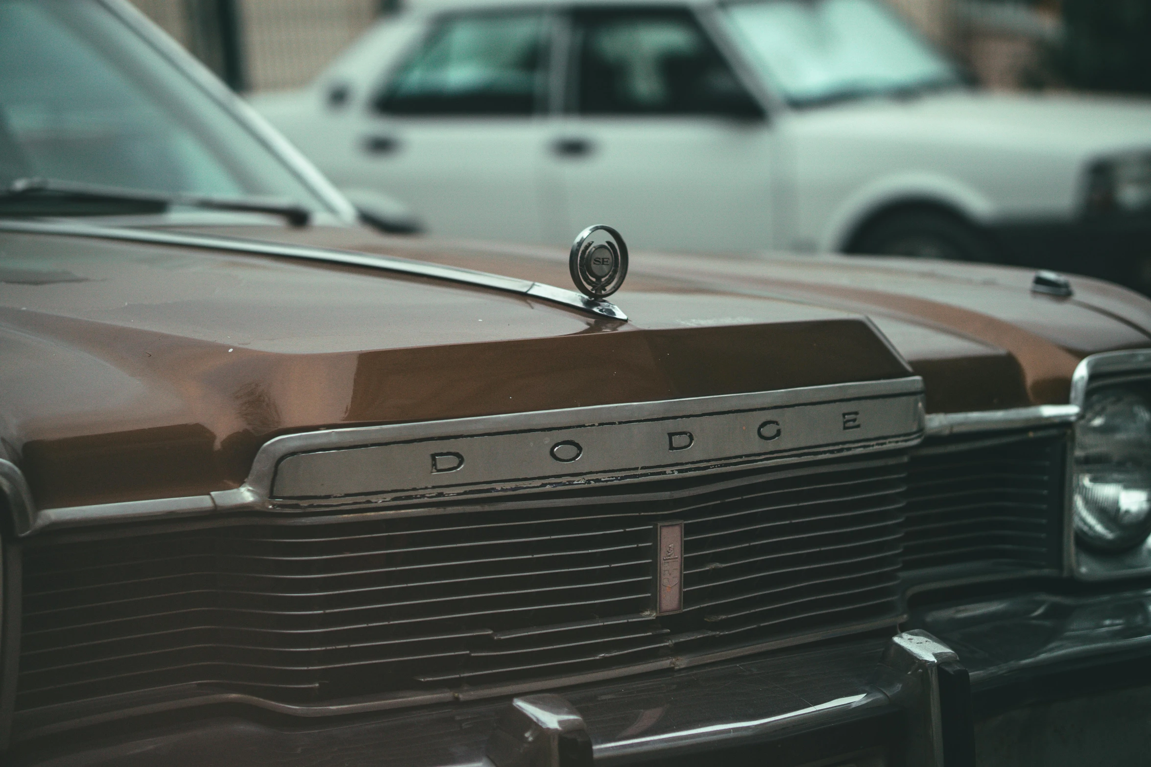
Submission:
M 268 213 L 284 218 L 292 227 L 306 227 L 312 212 L 296 202 L 257 198 L 166 194 L 120 186 L 102 186 L 54 178 L 17 178 L 0 191 L 0 216 L 117 215 L 127 213 L 163 213 L 175 206 Z

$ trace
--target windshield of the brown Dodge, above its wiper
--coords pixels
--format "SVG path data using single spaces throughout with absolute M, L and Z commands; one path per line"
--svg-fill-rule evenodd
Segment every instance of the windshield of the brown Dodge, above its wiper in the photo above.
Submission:
M 40 177 L 328 206 L 92 0 L 0 0 L 0 190 Z

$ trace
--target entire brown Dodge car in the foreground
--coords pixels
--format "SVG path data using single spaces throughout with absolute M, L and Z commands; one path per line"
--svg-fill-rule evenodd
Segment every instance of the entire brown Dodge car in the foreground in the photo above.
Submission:
M 1145 761 L 1151 301 L 384 237 L 113 0 L 0 182 L 5 765 Z

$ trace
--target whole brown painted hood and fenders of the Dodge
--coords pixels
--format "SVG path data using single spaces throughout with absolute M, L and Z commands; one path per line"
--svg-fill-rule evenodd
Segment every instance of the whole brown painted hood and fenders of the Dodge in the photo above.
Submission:
M 345 227 L 212 233 L 567 282 L 558 250 Z M 336 425 L 913 373 L 929 412 L 1066 402 L 1083 355 L 1151 345 L 1151 302 L 1128 291 L 1076 278 L 1075 298 L 1052 299 L 993 267 L 634 254 L 622 322 L 466 275 L 239 240 L 0 238 L 0 436 L 45 508 L 233 489 L 269 438 Z

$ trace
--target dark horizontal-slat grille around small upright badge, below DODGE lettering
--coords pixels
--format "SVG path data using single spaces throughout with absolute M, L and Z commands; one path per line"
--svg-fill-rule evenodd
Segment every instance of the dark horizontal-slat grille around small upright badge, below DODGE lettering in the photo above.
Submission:
M 276 701 L 552 678 L 899 618 L 902 457 L 506 507 L 52 536 L 17 708 L 196 683 Z M 683 521 L 684 611 L 654 614 Z

